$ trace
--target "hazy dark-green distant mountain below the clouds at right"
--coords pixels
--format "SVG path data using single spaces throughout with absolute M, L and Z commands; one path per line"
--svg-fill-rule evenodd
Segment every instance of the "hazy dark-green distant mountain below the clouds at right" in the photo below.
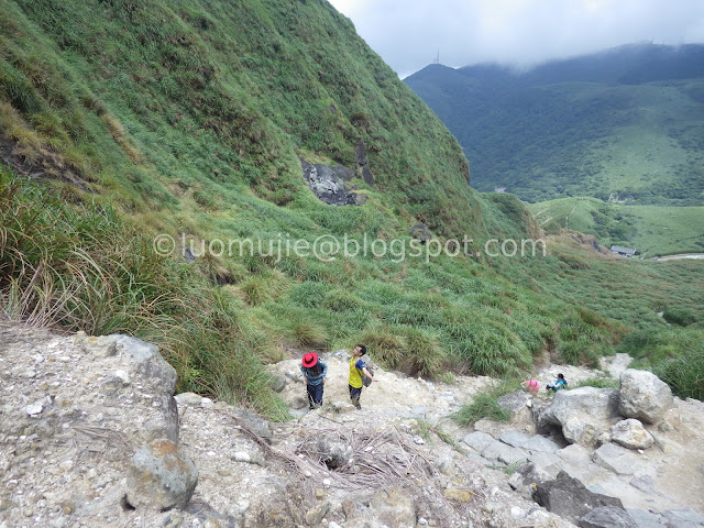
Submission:
M 529 72 L 431 65 L 405 81 L 459 140 L 479 190 L 704 202 L 704 45 L 632 44 Z

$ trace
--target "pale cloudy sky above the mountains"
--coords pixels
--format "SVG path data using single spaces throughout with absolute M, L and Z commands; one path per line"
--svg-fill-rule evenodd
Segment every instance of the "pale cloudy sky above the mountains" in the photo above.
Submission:
M 329 0 L 406 77 L 447 66 L 529 67 L 620 44 L 704 43 L 704 0 Z

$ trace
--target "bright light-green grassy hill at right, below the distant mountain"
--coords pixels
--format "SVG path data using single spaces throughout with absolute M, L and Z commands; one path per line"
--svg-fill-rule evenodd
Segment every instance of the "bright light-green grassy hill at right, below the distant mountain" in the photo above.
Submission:
M 603 245 L 636 248 L 642 257 L 704 251 L 704 208 L 628 206 L 596 198 L 559 198 L 528 209 L 549 231 L 594 234 Z

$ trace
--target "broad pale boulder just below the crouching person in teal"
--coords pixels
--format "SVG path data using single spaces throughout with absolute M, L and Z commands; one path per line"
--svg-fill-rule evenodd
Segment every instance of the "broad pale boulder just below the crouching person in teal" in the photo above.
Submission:
M 538 427 L 560 426 L 568 442 L 593 447 L 618 418 L 618 391 L 595 387 L 559 391 L 536 418 Z

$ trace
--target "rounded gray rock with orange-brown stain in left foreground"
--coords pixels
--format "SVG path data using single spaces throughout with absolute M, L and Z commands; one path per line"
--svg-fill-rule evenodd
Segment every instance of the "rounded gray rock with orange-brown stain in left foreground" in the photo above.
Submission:
M 168 439 L 142 447 L 130 464 L 127 499 L 134 508 L 185 508 L 198 483 L 198 469 Z

